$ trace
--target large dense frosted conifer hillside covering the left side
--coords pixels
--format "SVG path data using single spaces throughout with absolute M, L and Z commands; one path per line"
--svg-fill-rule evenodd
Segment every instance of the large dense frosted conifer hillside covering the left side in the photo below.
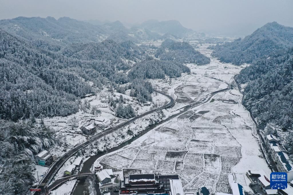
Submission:
M 118 70 L 129 69 L 121 59 L 133 60 L 138 56 L 133 49 L 127 49 L 131 48 L 129 43 L 121 46 L 110 40 L 90 43 L 91 48 L 88 44 L 72 45 L 63 50 L 64 55 L 44 54 L 3 30 L 0 44 L 0 117 L 12 120 L 28 118 L 31 113 L 75 113 L 78 97 L 101 88 L 107 80 L 115 81 Z M 93 86 L 85 81 L 92 81 Z

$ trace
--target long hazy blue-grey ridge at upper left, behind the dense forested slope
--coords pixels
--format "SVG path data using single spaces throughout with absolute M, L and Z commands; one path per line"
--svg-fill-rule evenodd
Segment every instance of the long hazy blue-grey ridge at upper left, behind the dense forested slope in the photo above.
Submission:
M 0 20 L 0 28 L 28 40 L 42 39 L 59 44 L 102 41 L 106 32 L 100 26 L 63 17 L 18 17 Z

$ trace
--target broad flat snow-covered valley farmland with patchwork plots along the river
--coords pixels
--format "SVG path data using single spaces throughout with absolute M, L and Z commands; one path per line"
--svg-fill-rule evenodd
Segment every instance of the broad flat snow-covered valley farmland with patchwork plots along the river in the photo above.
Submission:
M 210 56 L 211 51 L 206 48 L 207 45 L 202 45 L 198 50 Z M 226 88 L 227 84 L 219 80 L 230 83 L 241 70 L 213 58 L 209 65 L 188 66 L 195 74 L 183 74 L 171 82 L 152 80 L 158 88 L 165 88 L 182 100 L 173 110 Z M 119 151 L 100 157 L 96 163 L 115 171 L 179 174 L 185 192 L 196 192 L 205 186 L 211 193 L 229 193 L 228 183 L 233 181 L 250 191 L 245 173 L 261 169 L 269 174 L 270 170 L 261 157 L 254 123 L 241 105 L 241 98 L 237 89 L 220 92 L 207 103 L 159 125 Z

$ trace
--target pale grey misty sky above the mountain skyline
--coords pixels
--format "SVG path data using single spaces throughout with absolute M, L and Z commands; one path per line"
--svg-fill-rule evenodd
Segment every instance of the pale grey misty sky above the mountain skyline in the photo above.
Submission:
M 226 35 L 247 35 L 272 21 L 293 27 L 292 10 L 293 0 L 0 0 L 0 19 L 178 20 L 196 31 Z

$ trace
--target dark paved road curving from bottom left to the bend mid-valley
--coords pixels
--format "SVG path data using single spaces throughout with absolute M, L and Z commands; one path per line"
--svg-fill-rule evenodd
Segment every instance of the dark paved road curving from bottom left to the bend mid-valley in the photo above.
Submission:
M 41 192 L 35 192 L 35 194 L 42 194 L 42 193 L 45 193 L 45 190 L 44 190 L 44 187 L 47 186 L 50 181 L 52 180 L 53 176 L 57 173 L 57 171 L 62 167 L 62 165 L 67 161 L 68 158 L 70 158 L 71 156 L 73 156 L 77 151 L 85 148 L 86 146 L 88 146 L 89 144 L 93 143 L 94 141 L 96 141 L 97 139 L 99 139 L 100 137 L 103 137 L 105 136 L 106 134 L 109 134 L 111 132 L 114 132 L 116 131 L 117 129 L 121 128 L 121 127 L 124 127 L 132 122 L 134 122 L 135 120 L 139 119 L 139 118 L 142 118 L 144 117 L 145 115 L 148 115 L 148 114 L 151 114 L 153 112 L 156 112 L 158 110 L 161 110 L 161 109 L 166 109 L 166 108 L 171 108 L 172 106 L 174 106 L 174 99 L 169 96 L 168 94 L 164 94 L 162 92 L 159 92 L 157 90 L 154 90 L 155 92 L 158 92 L 166 97 L 168 97 L 170 99 L 170 102 L 160 108 L 157 108 L 155 110 L 151 110 L 151 111 L 148 111 L 146 113 L 143 113 L 141 115 L 138 115 L 126 122 L 123 122 L 113 128 L 110 128 L 110 129 L 107 129 L 107 130 L 104 130 L 102 133 L 100 134 L 97 134 L 97 135 L 94 135 L 93 137 L 91 137 L 88 141 L 85 141 L 84 143 L 76 146 L 75 148 L 69 150 L 68 152 L 66 152 L 63 156 L 61 156 L 59 159 L 57 159 L 57 161 L 55 161 L 51 168 L 48 170 L 47 174 L 45 175 L 45 177 L 42 179 L 41 183 L 38 185 L 38 187 L 36 188 L 40 188 L 42 189 Z

